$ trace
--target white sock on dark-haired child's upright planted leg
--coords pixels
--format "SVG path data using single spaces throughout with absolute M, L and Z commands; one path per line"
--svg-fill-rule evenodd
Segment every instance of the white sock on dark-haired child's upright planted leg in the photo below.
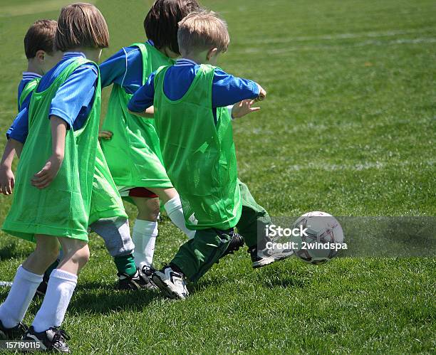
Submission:
M 135 244 L 133 257 L 135 264 L 142 269 L 143 266 L 152 265 L 155 255 L 155 243 L 157 237 L 157 222 L 137 219 L 133 226 L 132 240 Z

